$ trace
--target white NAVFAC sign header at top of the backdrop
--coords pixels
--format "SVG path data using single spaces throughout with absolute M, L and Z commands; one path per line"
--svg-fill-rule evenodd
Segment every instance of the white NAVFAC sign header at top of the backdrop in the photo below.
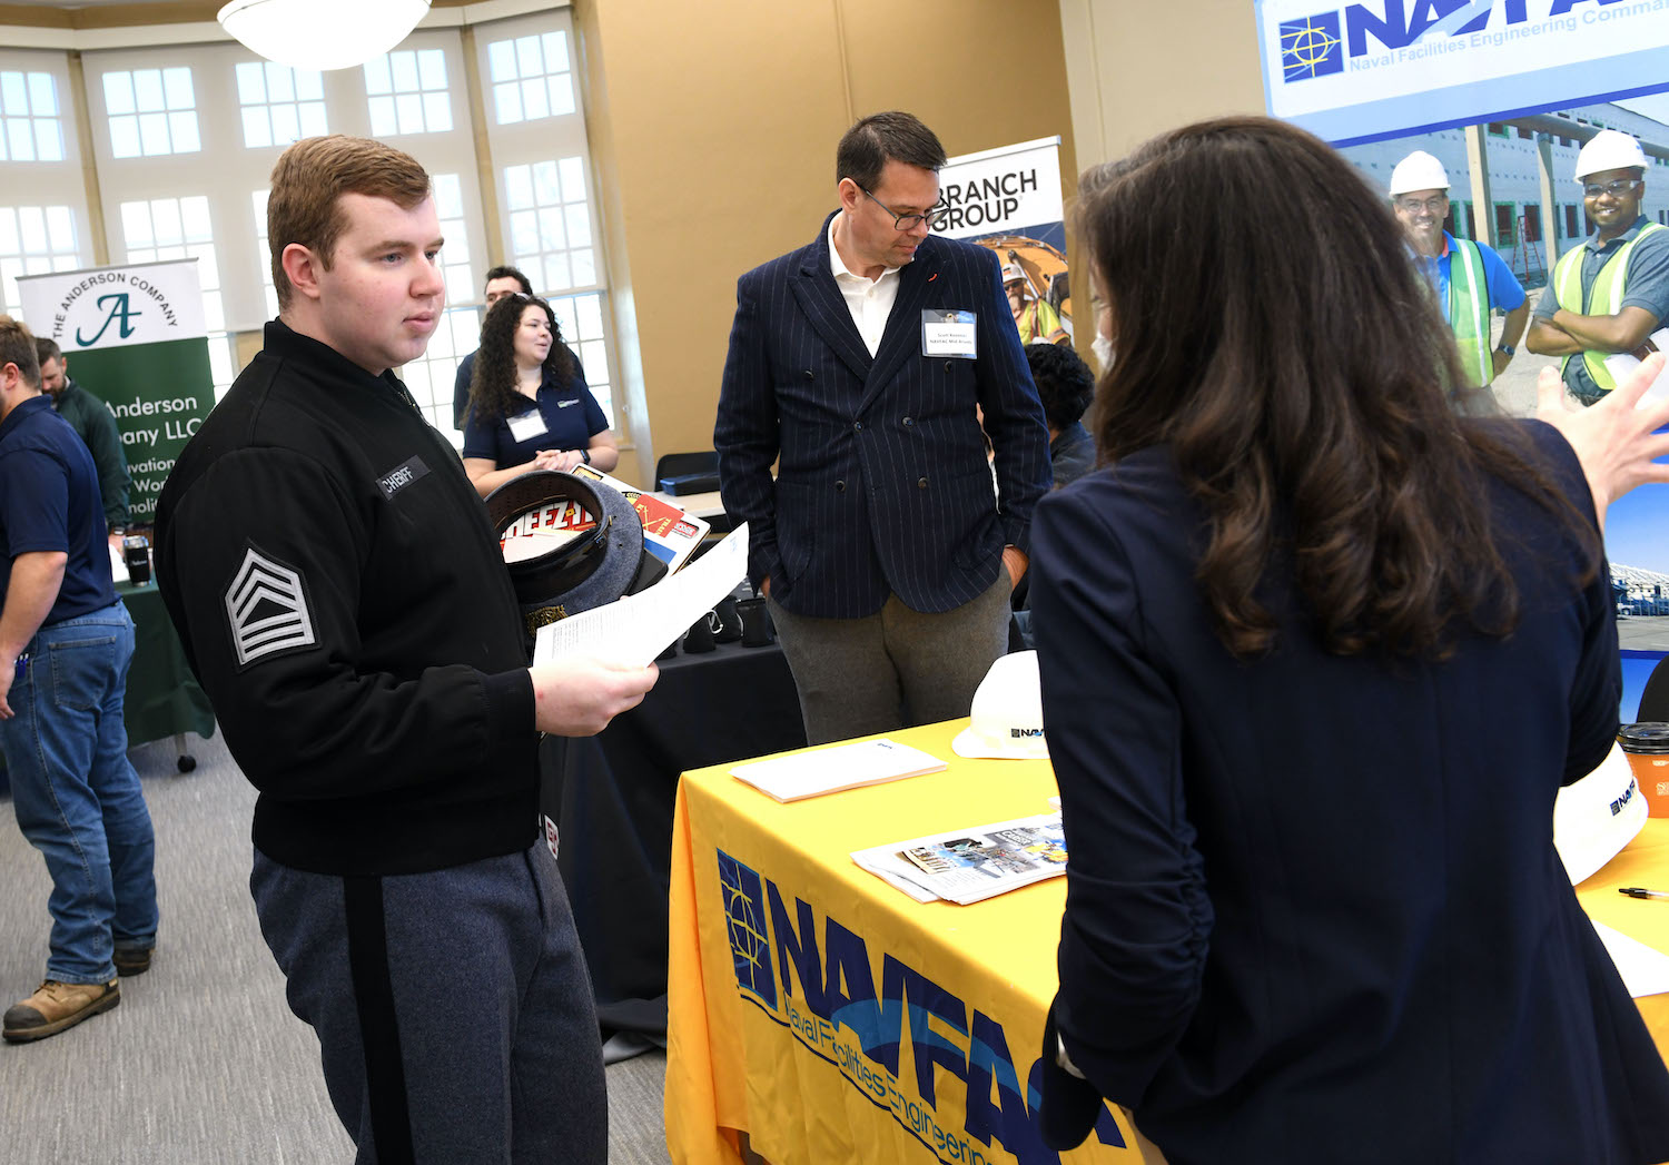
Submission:
M 1255 0 L 1268 112 L 1354 145 L 1669 88 L 1669 0 Z

